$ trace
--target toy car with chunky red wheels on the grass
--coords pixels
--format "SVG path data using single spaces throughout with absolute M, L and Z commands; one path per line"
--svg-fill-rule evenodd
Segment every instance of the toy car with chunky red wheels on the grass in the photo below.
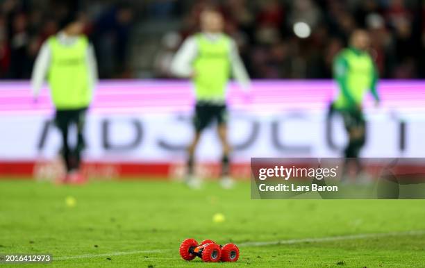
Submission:
M 188 238 L 181 242 L 180 256 L 185 260 L 198 256 L 204 262 L 235 262 L 239 258 L 239 249 L 232 243 L 221 246 L 213 240 L 203 240 L 198 244 L 197 240 Z

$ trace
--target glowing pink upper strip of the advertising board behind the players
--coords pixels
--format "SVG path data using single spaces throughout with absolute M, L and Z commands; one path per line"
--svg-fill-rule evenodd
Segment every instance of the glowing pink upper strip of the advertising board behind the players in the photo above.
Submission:
M 381 81 L 383 106 L 425 110 L 425 81 Z M 233 83 L 228 90 L 231 109 L 256 112 L 322 110 L 336 92 L 333 81 L 254 81 L 251 94 Z M 372 104 L 367 98 L 367 107 Z M 183 81 L 103 81 L 97 87 L 92 112 L 149 113 L 192 109 L 190 83 Z M 28 82 L 0 83 L 0 115 L 47 114 L 53 106 L 47 88 L 33 101 Z

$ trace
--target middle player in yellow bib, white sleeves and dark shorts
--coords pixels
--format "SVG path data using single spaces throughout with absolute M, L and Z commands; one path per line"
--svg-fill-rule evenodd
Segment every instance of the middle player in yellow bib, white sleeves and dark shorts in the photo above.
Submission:
M 202 131 L 213 121 L 222 144 L 222 186 L 231 187 L 227 139 L 226 86 L 231 73 L 242 89 L 249 88 L 249 76 L 240 60 L 238 48 L 223 33 L 224 18 L 212 8 L 201 12 L 201 33 L 188 37 L 172 62 L 172 72 L 181 78 L 191 78 L 196 94 L 194 115 L 195 135 L 188 148 L 188 184 L 196 186 L 194 152 Z

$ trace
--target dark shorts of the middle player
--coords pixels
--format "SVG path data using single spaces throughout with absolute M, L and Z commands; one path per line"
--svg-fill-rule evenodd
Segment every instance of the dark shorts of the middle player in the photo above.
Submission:
M 193 119 L 196 131 L 202 131 L 212 122 L 217 122 L 217 124 L 226 124 L 226 104 L 197 103 Z

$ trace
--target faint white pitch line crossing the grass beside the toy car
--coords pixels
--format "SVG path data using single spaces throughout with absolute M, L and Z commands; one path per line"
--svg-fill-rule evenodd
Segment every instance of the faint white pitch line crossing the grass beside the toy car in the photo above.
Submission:
M 379 237 L 391 237 L 391 236 L 408 236 L 408 235 L 425 235 L 425 230 L 418 231 L 401 231 L 401 232 L 390 232 L 390 233 L 364 233 L 359 235 L 338 235 L 329 237 L 312 237 L 312 238 L 301 238 L 301 239 L 290 239 L 290 240 L 276 240 L 276 241 L 264 241 L 264 242 L 242 242 L 238 246 L 273 246 L 280 244 L 301 244 L 301 243 L 319 243 L 319 242 L 333 242 L 340 240 L 358 240 L 366 238 L 379 238 Z M 172 251 L 172 249 L 153 249 L 144 251 L 117 251 L 111 253 L 100 253 L 100 254 L 84 254 L 77 256 L 63 256 L 54 257 L 55 260 L 74 260 L 74 259 L 85 259 L 85 258 L 99 258 L 99 257 L 110 257 L 110 256 L 124 256 L 142 253 L 163 253 L 165 251 Z

